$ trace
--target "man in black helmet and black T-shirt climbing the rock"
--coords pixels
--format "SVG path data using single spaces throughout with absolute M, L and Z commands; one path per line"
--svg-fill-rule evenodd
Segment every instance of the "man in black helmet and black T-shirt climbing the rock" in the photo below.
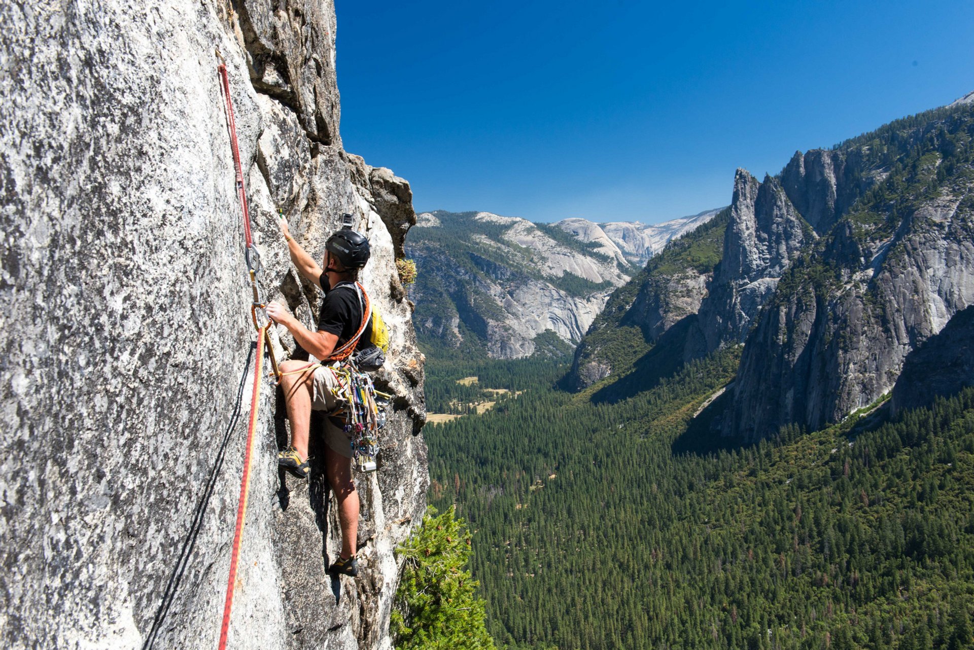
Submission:
M 315 332 L 306 328 L 281 303 L 269 304 L 267 315 L 286 327 L 294 341 L 319 360 L 328 359 L 336 349 L 353 339 L 362 326 L 362 307 L 357 292 L 338 290 L 343 285 L 354 286 L 358 271 L 368 262 L 370 254 L 368 239 L 352 230 L 351 219 L 351 215 L 343 215 L 346 227 L 328 238 L 321 267 L 290 235 L 282 216 L 279 220 L 291 262 L 298 272 L 321 288 L 324 300 L 318 311 L 318 330 Z M 366 324 L 360 335 L 361 341 L 369 340 L 370 327 L 371 323 Z M 311 412 L 330 413 L 345 404 L 343 398 L 336 396 L 339 392 L 338 379 L 327 366 L 286 375 L 307 366 L 307 362 L 293 359 L 281 363 L 281 373 L 284 374 L 281 387 L 287 404 L 287 418 L 291 422 L 291 444 L 278 454 L 278 464 L 299 478 L 306 478 L 311 472 L 308 465 Z M 356 484 L 352 479 L 351 440 L 330 418 L 324 419 L 325 467 L 328 483 L 338 499 L 338 519 L 342 528 L 342 552 L 338 560 L 328 567 L 328 572 L 332 575 L 356 576 L 359 504 Z

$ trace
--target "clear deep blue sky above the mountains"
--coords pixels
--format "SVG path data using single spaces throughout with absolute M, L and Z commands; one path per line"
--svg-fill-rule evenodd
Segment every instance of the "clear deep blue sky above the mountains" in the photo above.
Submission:
M 418 211 L 656 223 L 974 90 L 974 2 L 336 0 L 346 150 Z

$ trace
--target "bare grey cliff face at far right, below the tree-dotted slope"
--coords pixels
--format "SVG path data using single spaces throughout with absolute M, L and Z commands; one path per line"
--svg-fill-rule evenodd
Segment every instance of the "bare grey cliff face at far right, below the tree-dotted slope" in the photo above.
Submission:
M 954 203 L 939 223 L 918 207 L 858 264 L 841 266 L 840 233 L 823 255 L 833 262 L 824 282 L 796 270 L 796 286 L 748 338 L 725 430 L 754 438 L 791 421 L 818 428 L 889 391 L 907 356 L 974 304 L 974 221 Z

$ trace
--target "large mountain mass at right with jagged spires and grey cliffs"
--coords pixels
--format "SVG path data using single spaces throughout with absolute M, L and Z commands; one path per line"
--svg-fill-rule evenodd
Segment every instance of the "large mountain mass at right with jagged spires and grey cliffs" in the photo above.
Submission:
M 970 104 L 955 102 L 796 154 L 760 184 L 738 170 L 722 261 L 687 335 L 666 342 L 685 360 L 746 342 L 730 408 L 715 420 L 725 435 L 818 428 L 873 403 L 969 305 L 971 122 Z M 597 326 L 621 331 L 623 321 L 593 325 L 577 361 L 612 336 Z M 629 322 L 650 324 L 636 313 Z M 594 370 L 591 379 L 609 372 Z

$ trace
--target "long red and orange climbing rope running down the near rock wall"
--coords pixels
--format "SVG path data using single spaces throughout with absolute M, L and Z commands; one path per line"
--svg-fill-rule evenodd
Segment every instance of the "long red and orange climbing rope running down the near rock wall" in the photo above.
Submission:
M 234 121 L 234 106 L 230 98 L 230 78 L 227 73 L 227 63 L 220 51 L 216 51 L 219 64 L 216 67 L 220 77 L 220 90 L 226 100 L 227 108 L 227 129 L 230 132 L 230 144 L 234 157 L 234 167 L 237 175 L 237 195 L 241 201 L 241 208 L 244 213 L 244 261 L 246 262 L 247 275 L 250 280 L 252 302 L 250 304 L 250 317 L 253 319 L 253 326 L 257 330 L 257 361 L 254 364 L 253 374 L 253 393 L 250 397 L 250 418 L 247 425 L 246 447 L 244 451 L 244 471 L 241 476 L 240 500 L 237 505 L 237 524 L 234 528 L 234 541 L 230 553 L 230 575 L 227 578 L 227 596 L 223 605 L 223 622 L 220 626 L 219 650 L 227 647 L 227 633 L 230 630 L 230 613 L 233 607 L 234 586 L 237 582 L 237 564 L 240 560 L 241 539 L 244 534 L 244 521 L 246 519 L 247 494 L 250 486 L 250 457 L 253 449 L 254 434 L 257 429 L 257 406 L 260 402 L 260 384 L 264 373 L 264 350 L 266 349 L 271 359 L 271 367 L 278 381 L 281 380 L 281 369 L 278 367 L 278 360 L 274 356 L 274 347 L 271 344 L 271 320 L 267 315 L 261 293 L 260 285 L 257 281 L 257 273 L 260 271 L 260 253 L 253 245 L 253 237 L 250 235 L 250 213 L 247 209 L 246 190 L 244 188 L 244 170 L 241 165 L 240 147 L 237 143 L 237 124 Z

